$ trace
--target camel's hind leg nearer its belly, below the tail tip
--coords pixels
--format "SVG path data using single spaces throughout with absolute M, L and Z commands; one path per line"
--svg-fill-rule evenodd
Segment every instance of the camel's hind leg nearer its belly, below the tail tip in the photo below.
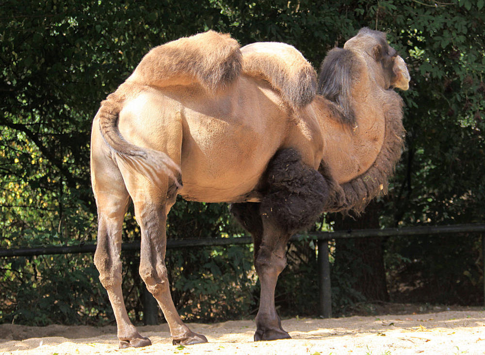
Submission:
M 125 176 L 123 169 L 122 172 Z M 207 342 L 206 337 L 192 332 L 182 322 L 170 294 L 165 266 L 165 224 L 177 197 L 177 187 L 166 177 L 161 177 L 154 184 L 144 176 L 135 174 L 125 178 L 125 182 L 141 229 L 140 275 L 162 308 L 173 343 L 190 345 Z

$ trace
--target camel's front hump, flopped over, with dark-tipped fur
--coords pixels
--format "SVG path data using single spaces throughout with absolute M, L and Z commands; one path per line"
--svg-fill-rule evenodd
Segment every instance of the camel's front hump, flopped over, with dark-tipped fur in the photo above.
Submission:
M 242 47 L 241 52 L 242 72 L 266 79 L 294 109 L 306 106 L 315 97 L 315 69 L 293 46 L 256 42 Z

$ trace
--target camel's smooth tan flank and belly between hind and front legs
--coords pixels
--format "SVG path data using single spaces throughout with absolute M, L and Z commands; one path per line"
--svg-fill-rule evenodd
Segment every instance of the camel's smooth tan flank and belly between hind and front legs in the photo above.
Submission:
M 239 94 L 230 100 L 205 101 L 204 109 L 189 104 L 183 109 L 179 193 L 187 199 L 241 200 L 258 185 L 283 144 L 287 114 L 265 95 Z

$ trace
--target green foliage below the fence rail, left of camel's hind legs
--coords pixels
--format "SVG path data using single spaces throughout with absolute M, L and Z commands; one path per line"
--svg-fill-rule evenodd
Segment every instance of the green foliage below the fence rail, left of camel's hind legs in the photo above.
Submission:
M 18 257 L 2 263 L 0 318 L 47 325 L 99 324 L 112 314 L 91 255 Z

